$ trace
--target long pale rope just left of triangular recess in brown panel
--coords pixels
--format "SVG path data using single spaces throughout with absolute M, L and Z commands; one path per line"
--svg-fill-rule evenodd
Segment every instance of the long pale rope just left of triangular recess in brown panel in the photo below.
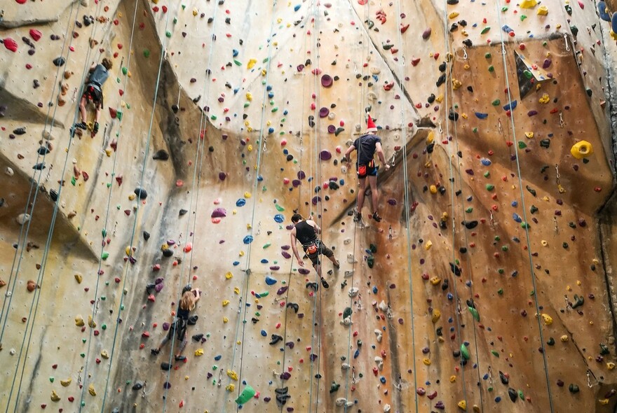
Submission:
M 502 27 L 501 25 L 501 13 L 499 10 L 501 10 L 501 0 L 497 0 L 495 2 L 495 8 L 496 8 L 496 13 L 497 13 L 497 19 L 499 20 L 499 27 Z M 502 48 L 505 47 L 505 43 L 503 40 L 503 31 L 500 30 L 499 34 L 501 36 L 501 45 Z M 505 75 L 505 80 L 506 80 L 506 91 L 508 92 L 508 102 L 513 102 L 512 100 L 512 93 L 510 92 L 510 79 L 508 76 L 508 62 L 506 59 L 506 55 L 502 53 L 501 55 L 501 59 L 503 60 L 503 73 Z M 527 224 L 527 207 L 525 205 L 525 197 L 524 197 L 524 193 L 523 193 L 523 182 L 522 182 L 522 175 L 521 175 L 521 168 L 520 168 L 520 161 L 519 161 L 519 153 L 518 153 L 518 140 L 516 137 L 516 126 L 515 126 L 515 121 L 514 121 L 514 116 L 510 116 L 510 127 L 512 128 L 512 135 L 513 135 L 513 140 L 514 140 L 514 148 L 515 148 L 515 155 L 516 155 L 516 170 L 517 170 L 517 175 L 518 175 L 518 183 L 519 183 L 519 190 L 520 190 L 520 197 L 521 197 L 521 206 L 522 206 L 522 214 L 523 214 L 523 219 L 524 219 L 524 230 L 525 230 L 525 238 L 527 241 L 527 253 L 529 255 L 529 275 L 531 276 L 531 283 L 533 283 L 534 286 L 534 304 L 536 307 L 536 314 L 538 316 L 536 316 L 536 321 L 538 321 L 538 332 L 540 334 L 540 344 L 541 344 L 541 353 L 542 353 L 542 360 L 544 363 L 544 375 L 545 375 L 545 380 L 546 380 L 546 392 L 548 395 L 548 404 L 550 407 L 550 412 L 554 413 L 555 412 L 555 407 L 553 407 L 552 404 L 552 393 L 550 391 L 550 379 L 548 377 L 548 360 L 546 358 L 546 351 L 545 351 L 545 345 L 544 345 L 544 337 L 543 337 L 543 333 L 542 333 L 542 324 L 541 324 L 541 317 L 539 316 L 540 314 L 540 304 L 538 304 L 538 290 L 536 288 L 536 274 L 534 274 L 534 258 L 533 255 L 531 254 L 531 241 L 529 240 L 529 225 Z

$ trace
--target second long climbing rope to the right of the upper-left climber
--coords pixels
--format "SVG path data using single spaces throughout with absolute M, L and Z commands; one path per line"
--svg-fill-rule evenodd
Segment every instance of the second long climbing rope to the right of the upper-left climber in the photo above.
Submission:
M 167 13 L 167 18 L 165 19 L 165 31 L 167 31 L 169 27 L 170 15 L 171 13 Z M 146 139 L 146 147 L 144 150 L 144 160 L 142 162 L 142 174 L 140 176 L 140 181 L 139 181 L 140 186 L 138 187 L 140 189 L 143 189 L 144 176 L 146 174 L 146 164 L 148 161 L 148 155 L 150 151 L 150 141 L 152 138 L 152 128 L 154 125 L 154 114 L 156 112 L 156 100 L 158 98 L 158 88 L 161 85 L 161 71 L 163 69 L 163 60 L 165 59 L 165 53 L 166 53 L 165 52 L 165 45 L 167 43 L 166 39 L 167 37 L 165 36 L 165 38 L 163 38 L 163 41 L 161 41 L 161 57 L 158 60 L 158 71 L 156 73 L 156 86 L 154 88 L 154 98 L 152 99 L 152 110 L 150 113 L 149 127 L 148 127 L 148 132 L 147 132 L 147 139 Z M 141 192 L 140 192 L 140 195 L 141 195 Z M 129 246 L 128 246 L 128 252 L 130 254 L 129 258 L 133 256 L 133 245 L 135 244 L 135 233 L 137 232 L 137 221 L 139 221 L 139 216 L 140 216 L 139 212 L 141 209 L 141 204 L 142 204 L 142 200 L 140 196 L 137 195 L 137 207 L 135 207 L 136 208 L 135 214 L 134 214 L 135 218 L 133 219 L 133 228 L 131 231 L 130 241 L 129 241 Z M 122 290 L 123 291 L 126 290 L 126 279 L 128 279 L 129 268 L 130 268 L 130 265 L 132 265 L 130 263 L 130 260 L 127 260 L 126 262 L 127 263 L 124 266 L 124 271 L 123 271 L 123 276 L 122 276 L 122 279 L 123 279 Z M 116 327 L 114 328 L 114 339 L 111 344 L 111 353 L 109 354 L 109 366 L 107 367 L 107 379 L 105 380 L 105 388 L 104 388 L 101 412 L 104 412 L 105 403 L 107 402 L 107 389 L 109 387 L 109 375 L 111 374 L 111 365 L 113 364 L 114 356 L 116 353 L 116 339 L 118 338 L 118 330 L 122 322 L 121 311 L 123 311 L 123 308 L 124 308 L 124 297 L 125 297 L 125 294 L 121 294 L 120 303 L 118 304 L 118 311 L 116 313 L 118 314 L 118 316 L 116 318 Z M 84 387 L 86 387 L 85 384 L 84 384 Z

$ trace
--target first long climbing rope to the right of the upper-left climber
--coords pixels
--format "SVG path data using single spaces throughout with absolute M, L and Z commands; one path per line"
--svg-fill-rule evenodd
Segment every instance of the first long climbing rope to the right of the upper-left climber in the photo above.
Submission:
M 133 13 L 133 25 L 131 27 L 131 33 L 130 33 L 130 41 L 129 41 L 129 47 L 128 50 L 133 50 L 133 36 L 135 34 L 135 22 L 137 21 L 137 0 L 135 0 L 135 11 Z M 127 73 L 128 70 L 130 70 L 130 60 L 131 60 L 131 53 L 128 53 L 128 59 L 127 59 L 127 64 L 126 64 L 126 68 L 127 68 Z M 126 76 L 124 78 L 124 85 L 123 85 L 123 90 L 125 91 L 124 96 L 128 96 L 127 92 L 128 92 L 128 76 Z M 126 97 L 124 97 L 124 99 L 126 99 Z M 122 127 L 122 120 L 123 117 L 121 117 L 118 120 L 118 142 L 120 141 L 121 138 L 121 127 Z M 101 272 L 101 268 L 102 268 L 102 262 L 103 262 L 103 254 L 104 254 L 104 250 L 105 250 L 105 246 L 107 246 L 107 243 L 105 242 L 105 237 L 107 236 L 107 225 L 109 225 L 109 211 L 111 211 L 111 194 L 113 193 L 114 190 L 114 186 L 111 185 L 111 183 L 113 183 L 114 181 L 114 176 L 116 176 L 116 165 L 117 165 L 117 159 L 118 159 L 118 152 L 114 151 L 114 162 L 113 165 L 111 167 L 111 175 L 109 176 L 109 195 L 107 195 L 107 207 L 105 209 L 105 219 L 104 219 L 104 223 L 103 223 L 103 230 L 102 230 L 102 241 L 101 241 L 101 249 L 100 249 L 100 254 L 99 254 L 99 264 L 97 267 L 97 272 L 95 274 L 96 277 L 96 283 L 95 283 L 95 293 L 94 293 L 94 303 L 93 303 L 93 307 L 92 307 L 92 311 L 90 313 L 90 316 L 92 317 L 93 323 L 95 323 L 95 316 L 97 314 L 97 306 L 98 306 L 98 302 L 99 302 L 99 286 L 100 286 L 100 280 L 101 280 L 101 276 L 99 276 L 100 272 Z M 94 324 L 93 324 L 94 325 Z M 90 364 L 90 348 L 92 346 L 92 342 L 93 342 L 93 333 L 94 333 L 94 328 L 90 328 L 90 333 L 88 334 L 88 349 L 86 350 L 86 363 L 83 365 L 83 377 L 88 377 L 88 365 Z M 80 397 L 80 405 L 83 404 L 83 398 L 86 394 L 86 386 L 82 386 L 81 388 L 81 397 Z

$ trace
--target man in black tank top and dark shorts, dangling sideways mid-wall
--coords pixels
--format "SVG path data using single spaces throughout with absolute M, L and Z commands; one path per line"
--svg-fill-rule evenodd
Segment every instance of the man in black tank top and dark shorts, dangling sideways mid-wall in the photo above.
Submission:
M 334 253 L 332 250 L 325 246 L 317 237 L 317 235 L 321 233 L 321 228 L 319 228 L 319 225 L 311 219 L 304 220 L 300 214 L 294 214 L 292 216 L 292 223 L 294 224 L 294 228 L 291 233 L 292 249 L 298 260 L 298 265 L 300 267 L 304 267 L 304 261 L 300 258 L 298 249 L 296 248 L 296 241 L 300 241 L 302 244 L 302 249 L 304 249 L 304 252 L 308 255 L 308 258 L 310 258 L 311 262 L 313 262 L 313 268 L 315 268 L 317 274 L 320 276 L 323 287 L 328 288 L 327 281 L 325 281 L 323 276 L 321 276 L 321 262 L 319 255 L 322 254 L 327 258 L 330 258 L 330 261 L 332 261 L 332 264 L 334 264 L 334 268 L 336 269 L 339 269 L 340 265 L 339 261 L 334 258 Z

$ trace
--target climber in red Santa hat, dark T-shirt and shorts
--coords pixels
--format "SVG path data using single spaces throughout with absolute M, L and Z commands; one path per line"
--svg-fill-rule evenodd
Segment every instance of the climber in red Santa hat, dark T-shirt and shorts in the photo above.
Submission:
M 358 189 L 358 205 L 355 207 L 353 215 L 353 222 L 356 223 L 362 221 L 362 205 L 364 204 L 367 176 L 369 186 L 371 187 L 373 207 L 372 218 L 377 222 L 381 221 L 381 216 L 377 214 L 377 207 L 379 205 L 379 194 L 377 193 L 377 169 L 379 169 L 379 167 L 375 165 L 375 160 L 373 159 L 375 152 L 377 152 L 379 160 L 381 160 L 381 165 L 384 165 L 386 171 L 390 169 L 390 165 L 386 163 L 386 155 L 384 155 L 384 150 L 381 149 L 381 139 L 375 135 L 374 132 L 377 132 L 377 127 L 369 115 L 366 133 L 358 139 L 355 139 L 353 144 L 345 152 L 347 169 L 349 169 L 351 167 L 350 155 L 353 151 L 358 151 L 358 160 L 355 161 L 355 168 L 358 171 L 358 184 L 360 185 L 360 189 Z

